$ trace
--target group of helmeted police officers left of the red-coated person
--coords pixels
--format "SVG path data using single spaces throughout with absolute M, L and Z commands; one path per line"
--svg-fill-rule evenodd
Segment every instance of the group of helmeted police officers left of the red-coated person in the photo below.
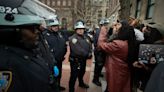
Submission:
M 37 11 L 37 7 L 23 9 L 26 0 L 19 1 L 0 1 L 2 8 L 12 10 L 0 12 L 0 92 L 64 91 L 60 82 L 68 45 L 71 52 L 69 91 L 74 92 L 77 78 L 79 87 L 89 88 L 83 76 L 86 60 L 92 57 L 92 45 L 91 39 L 84 35 L 84 23 L 77 21 L 74 35 L 68 39 L 55 15 L 44 19 L 30 14 L 42 11 Z

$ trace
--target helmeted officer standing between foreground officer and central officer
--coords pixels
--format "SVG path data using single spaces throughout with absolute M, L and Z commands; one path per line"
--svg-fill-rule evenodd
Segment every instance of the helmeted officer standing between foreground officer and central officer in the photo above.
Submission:
M 48 30 L 45 33 L 45 38 L 50 47 L 50 51 L 53 53 L 55 60 L 57 61 L 57 67 L 59 68 L 58 83 L 60 90 L 65 90 L 60 85 L 62 76 L 62 62 L 65 59 L 64 56 L 67 51 L 66 40 L 63 37 L 62 31 L 59 29 L 59 21 L 57 18 L 51 18 L 47 21 Z

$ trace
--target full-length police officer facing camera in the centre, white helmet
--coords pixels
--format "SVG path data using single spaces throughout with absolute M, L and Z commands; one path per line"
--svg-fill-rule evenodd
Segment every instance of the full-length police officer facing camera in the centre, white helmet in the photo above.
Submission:
M 69 80 L 69 92 L 74 92 L 74 86 L 78 77 L 79 86 L 89 88 L 83 81 L 85 74 L 86 60 L 91 56 L 91 43 L 84 35 L 85 26 L 81 21 L 78 21 L 75 26 L 75 34 L 69 38 L 70 45 L 70 66 L 71 76 Z

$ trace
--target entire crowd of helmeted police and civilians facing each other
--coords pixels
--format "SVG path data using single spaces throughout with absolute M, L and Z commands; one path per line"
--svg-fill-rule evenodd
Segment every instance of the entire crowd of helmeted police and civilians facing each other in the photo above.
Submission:
M 15 1 L 12 4 L 7 1 L 0 0 L 0 6 L 19 7 L 14 5 Z M 92 82 L 102 86 L 99 77 L 105 67 L 105 92 L 136 92 L 136 88 L 145 92 L 164 91 L 163 62 L 138 60 L 140 44 L 164 44 L 158 29 L 134 18 L 116 23 L 103 18 L 99 26 L 86 31 L 85 22 L 78 20 L 74 34 L 68 38 L 56 16 L 43 19 L 29 15 L 28 9 L 25 11 L 0 12 L 0 92 L 64 91 L 60 82 L 67 46 L 71 69 L 69 92 L 75 92 L 77 79 L 79 87 L 89 88 L 83 77 L 92 53 L 95 57 Z

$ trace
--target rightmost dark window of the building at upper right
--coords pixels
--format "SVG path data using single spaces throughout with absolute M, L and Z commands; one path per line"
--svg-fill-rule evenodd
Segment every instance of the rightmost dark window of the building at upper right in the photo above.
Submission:
M 152 19 L 155 8 L 155 0 L 148 0 L 146 19 Z

